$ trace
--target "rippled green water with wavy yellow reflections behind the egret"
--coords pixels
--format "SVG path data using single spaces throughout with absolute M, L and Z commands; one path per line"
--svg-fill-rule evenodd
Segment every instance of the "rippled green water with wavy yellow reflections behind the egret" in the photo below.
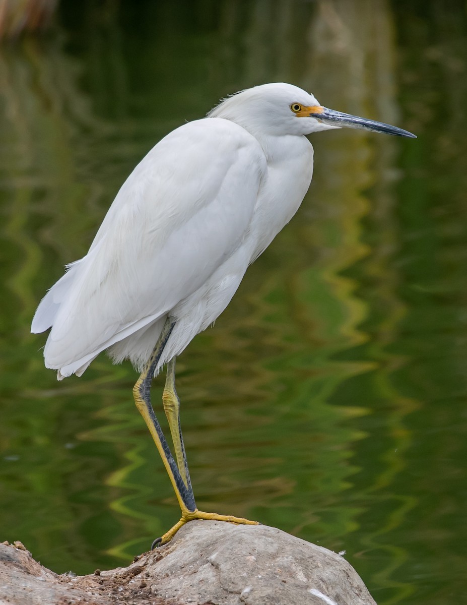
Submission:
M 0 35 L 0 540 L 83 574 L 178 520 L 131 365 L 57 382 L 30 321 L 160 138 L 285 81 L 418 139 L 315 134 L 298 214 L 179 358 L 198 506 L 347 551 L 380 605 L 465 602 L 465 2 L 4 0 Z

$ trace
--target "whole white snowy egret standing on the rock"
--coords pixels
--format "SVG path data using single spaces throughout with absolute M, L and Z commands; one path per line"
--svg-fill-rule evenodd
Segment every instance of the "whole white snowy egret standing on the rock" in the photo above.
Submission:
M 81 374 L 103 350 L 140 371 L 134 399 L 181 508 L 170 540 L 192 519 L 255 524 L 198 511 L 180 428 L 175 358 L 223 312 L 250 263 L 301 204 L 313 172 L 305 135 L 362 128 L 413 134 L 329 110 L 290 84 L 264 84 L 219 103 L 162 139 L 136 166 L 90 250 L 42 299 L 31 332 L 51 327 L 45 365 Z M 175 459 L 152 409 L 153 376 L 167 364 L 163 408 Z

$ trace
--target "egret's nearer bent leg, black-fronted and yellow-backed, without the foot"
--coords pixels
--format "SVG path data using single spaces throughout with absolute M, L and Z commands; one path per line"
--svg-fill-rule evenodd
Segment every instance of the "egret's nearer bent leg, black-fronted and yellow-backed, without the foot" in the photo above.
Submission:
M 151 381 L 152 377 L 154 376 L 155 367 L 160 359 L 160 356 L 162 355 L 166 342 L 174 329 L 174 325 L 175 324 L 169 319 L 166 320 L 157 344 L 154 347 L 154 351 L 152 352 L 152 355 L 142 371 L 136 385 L 133 387 L 133 396 L 136 407 L 145 419 L 146 425 L 148 425 L 149 431 L 152 435 L 152 439 L 154 439 L 158 453 L 162 458 L 162 462 L 164 463 L 174 488 L 175 495 L 177 495 L 180 508 L 182 511 L 191 512 L 196 510 L 193 492 L 191 489 L 189 490 L 187 488 L 185 481 L 182 479 L 180 472 L 178 471 L 177 464 L 172 456 L 167 440 L 162 432 L 162 428 L 160 428 L 160 424 L 158 423 L 157 417 L 152 409 L 150 396 Z

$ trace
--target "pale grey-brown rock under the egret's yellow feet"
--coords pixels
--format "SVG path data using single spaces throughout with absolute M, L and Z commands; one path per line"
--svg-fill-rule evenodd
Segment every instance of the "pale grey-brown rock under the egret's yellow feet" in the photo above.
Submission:
M 264 525 L 192 521 L 129 567 L 72 578 L 0 545 L 0 605 L 376 605 L 341 555 Z

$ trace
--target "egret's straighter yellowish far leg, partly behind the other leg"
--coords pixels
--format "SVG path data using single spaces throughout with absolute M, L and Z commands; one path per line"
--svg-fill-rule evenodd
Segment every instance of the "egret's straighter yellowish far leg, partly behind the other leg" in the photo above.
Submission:
M 175 357 L 167 364 L 167 378 L 165 381 L 164 392 L 162 395 L 162 403 L 164 405 L 165 415 L 169 422 L 169 428 L 174 442 L 175 458 L 177 459 L 178 471 L 185 482 L 186 488 L 192 495 L 193 488 L 191 486 L 190 473 L 188 470 L 188 462 L 186 462 L 185 445 L 183 443 L 183 435 L 181 434 L 180 425 L 180 399 L 178 399 L 177 390 L 175 389 Z

